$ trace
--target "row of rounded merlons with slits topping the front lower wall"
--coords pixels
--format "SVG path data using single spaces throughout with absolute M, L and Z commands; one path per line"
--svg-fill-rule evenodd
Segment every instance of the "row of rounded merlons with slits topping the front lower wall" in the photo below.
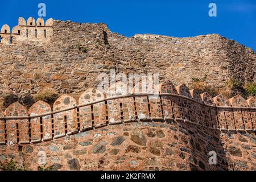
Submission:
M 18 102 L 0 113 L 0 143 L 28 144 L 73 135 L 86 130 L 138 121 L 187 122 L 210 130 L 254 132 L 256 97 L 245 100 L 240 95 L 225 98 L 219 94 L 200 94 L 185 85 L 170 81 L 158 85 L 159 95 L 142 92 L 142 83 L 132 94 L 122 82 L 110 85 L 105 95 L 90 88 L 79 101 L 64 94 L 53 107 L 38 101 L 29 110 Z M 146 89 L 147 90 L 147 89 Z

